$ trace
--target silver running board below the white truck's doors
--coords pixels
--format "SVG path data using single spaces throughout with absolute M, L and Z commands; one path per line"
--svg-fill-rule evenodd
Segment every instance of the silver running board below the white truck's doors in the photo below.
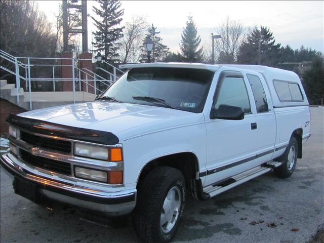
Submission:
M 276 168 L 281 165 L 281 162 L 271 161 L 263 166 L 255 167 L 248 171 L 237 174 L 231 178 L 219 181 L 214 185 L 210 185 L 204 188 L 204 192 L 210 195 L 210 197 L 216 196 L 224 191 L 227 191 L 239 184 L 247 182 L 255 177 L 261 176 L 271 169 Z

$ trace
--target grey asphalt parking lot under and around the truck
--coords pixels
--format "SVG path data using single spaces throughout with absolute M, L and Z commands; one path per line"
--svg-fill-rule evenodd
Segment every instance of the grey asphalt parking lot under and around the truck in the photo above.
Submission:
M 292 177 L 272 172 L 207 201 L 188 198 L 174 242 L 307 242 L 324 224 L 324 108 Z M 1 242 L 137 242 L 131 217 L 105 219 L 14 194 L 1 168 Z

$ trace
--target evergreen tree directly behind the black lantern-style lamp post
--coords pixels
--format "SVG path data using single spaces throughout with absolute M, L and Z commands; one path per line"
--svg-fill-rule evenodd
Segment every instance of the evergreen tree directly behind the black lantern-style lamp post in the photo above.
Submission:
M 156 29 L 157 27 L 154 27 L 154 25 L 152 24 L 151 27 L 147 28 L 147 34 L 146 34 L 146 36 L 150 37 L 153 41 L 151 62 L 160 62 L 166 59 L 170 50 L 166 45 L 163 45 L 161 43 L 163 39 L 159 36 L 160 32 L 159 31 L 157 32 Z M 142 43 L 144 43 L 144 38 L 142 39 Z M 144 48 L 142 48 L 141 62 L 147 62 L 147 52 L 144 50 Z

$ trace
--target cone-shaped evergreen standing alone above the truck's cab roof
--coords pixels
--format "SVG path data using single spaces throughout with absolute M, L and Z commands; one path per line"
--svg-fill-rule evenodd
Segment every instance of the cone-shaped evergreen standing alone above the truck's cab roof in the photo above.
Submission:
M 184 62 L 201 62 L 203 60 L 203 48 L 199 48 L 200 42 L 196 25 L 192 16 L 189 16 L 181 34 L 180 51 Z

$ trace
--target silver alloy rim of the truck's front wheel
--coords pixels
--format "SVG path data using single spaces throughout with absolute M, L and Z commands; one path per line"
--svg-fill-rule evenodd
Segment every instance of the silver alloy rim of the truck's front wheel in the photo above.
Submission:
M 179 187 L 174 186 L 164 200 L 161 210 L 160 227 L 165 233 L 170 232 L 177 222 L 181 207 L 181 192 Z

